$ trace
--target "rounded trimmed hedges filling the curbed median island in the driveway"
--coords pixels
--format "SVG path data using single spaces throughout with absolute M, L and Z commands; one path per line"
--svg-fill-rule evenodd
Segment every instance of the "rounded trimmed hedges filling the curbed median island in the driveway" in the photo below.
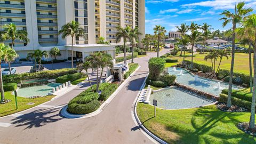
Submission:
M 99 95 L 95 92 L 97 85 L 93 85 L 94 92 L 91 89 L 87 89 L 78 94 L 74 99 L 68 103 L 68 112 L 72 114 L 89 114 L 97 110 L 101 103 L 99 101 Z M 101 90 L 101 100 L 107 100 L 109 96 L 117 89 L 117 84 L 102 83 L 99 87 Z

